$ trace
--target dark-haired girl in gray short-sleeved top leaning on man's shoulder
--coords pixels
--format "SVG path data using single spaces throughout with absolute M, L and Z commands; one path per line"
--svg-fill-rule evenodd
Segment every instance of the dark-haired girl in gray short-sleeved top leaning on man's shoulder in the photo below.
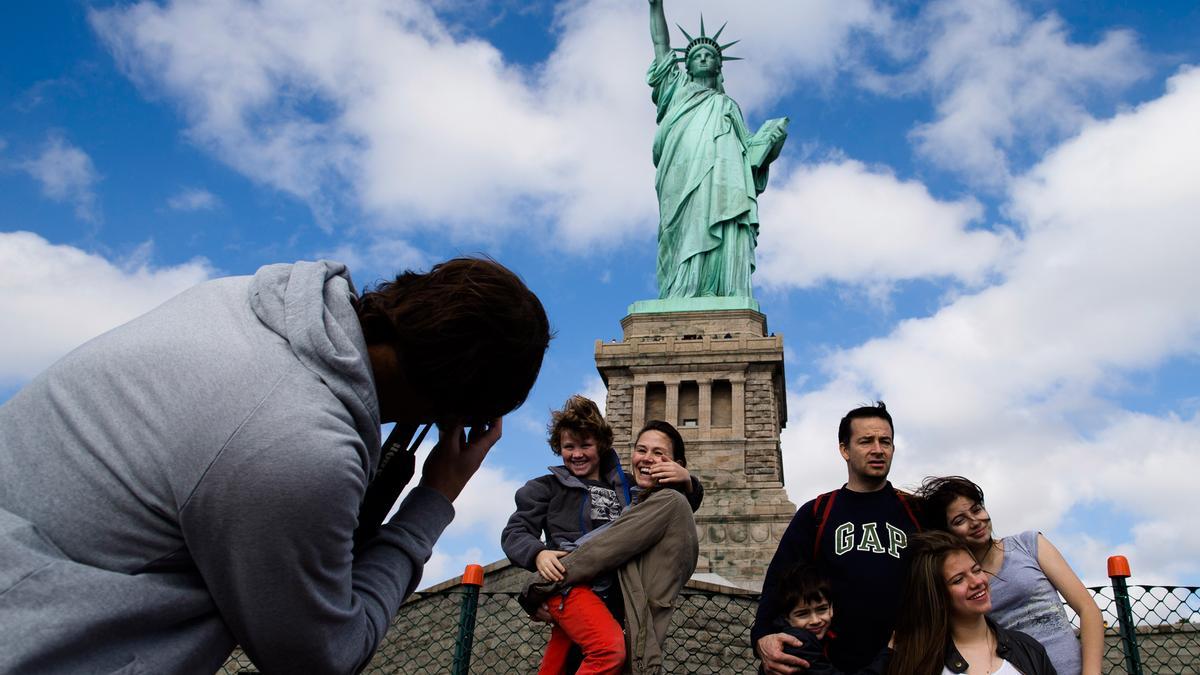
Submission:
M 925 500 L 928 526 L 964 538 L 991 575 L 991 619 L 1037 638 L 1060 674 L 1099 675 L 1104 620 L 1049 539 L 1033 531 L 996 539 L 983 490 L 960 476 L 926 478 L 917 495 Z M 1079 639 L 1060 595 L 1079 615 Z

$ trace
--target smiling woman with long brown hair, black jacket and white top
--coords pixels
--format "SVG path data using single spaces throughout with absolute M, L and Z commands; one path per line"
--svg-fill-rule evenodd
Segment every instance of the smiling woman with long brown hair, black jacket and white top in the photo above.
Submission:
M 1045 649 L 988 619 L 989 575 L 959 537 L 914 534 L 888 675 L 1057 675 Z

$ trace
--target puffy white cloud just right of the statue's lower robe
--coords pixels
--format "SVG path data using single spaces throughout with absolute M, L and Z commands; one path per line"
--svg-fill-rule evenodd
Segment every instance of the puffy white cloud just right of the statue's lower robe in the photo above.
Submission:
M 767 287 L 929 276 L 978 283 L 1013 244 L 1007 233 L 968 229 L 983 215 L 976 201 L 942 202 L 852 160 L 800 167 L 763 211 L 755 280 Z

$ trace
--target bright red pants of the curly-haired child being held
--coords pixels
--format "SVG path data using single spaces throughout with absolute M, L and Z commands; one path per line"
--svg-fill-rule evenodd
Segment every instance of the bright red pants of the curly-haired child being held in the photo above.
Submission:
M 546 609 L 554 620 L 554 629 L 541 657 L 539 675 L 564 673 L 571 644 L 583 650 L 583 663 L 576 675 L 620 673 L 625 664 L 625 635 L 620 623 L 592 589 L 577 586 L 565 598 L 552 597 L 546 602 Z

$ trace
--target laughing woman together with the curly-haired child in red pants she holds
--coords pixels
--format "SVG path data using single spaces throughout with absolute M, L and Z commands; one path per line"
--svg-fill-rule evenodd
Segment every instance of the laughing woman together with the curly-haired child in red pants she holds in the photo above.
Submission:
M 595 402 L 571 396 L 551 416 L 548 431 L 551 449 L 563 458 L 563 465 L 551 466 L 550 474 L 517 491 L 517 509 L 504 528 L 502 546 L 515 565 L 536 572 L 542 583 L 540 595 L 529 604 L 548 613 L 554 627 L 539 673 L 568 671 L 572 645 L 582 650 L 580 674 L 619 673 L 626 662 L 622 620 L 630 628 L 628 651 L 636 667 L 647 651 L 644 643 L 658 644 L 654 635 L 666 629 L 659 613 L 643 611 L 647 599 L 654 601 L 654 607 L 661 605 L 658 595 L 670 592 L 673 599 L 678 592 L 671 591 L 674 577 L 682 574 L 682 586 L 696 563 L 695 550 L 670 549 L 676 538 L 665 539 L 653 528 L 662 524 L 674 527 L 676 518 L 683 522 L 677 528 L 690 532 L 690 549 L 695 549 L 691 512 L 700 506 L 703 489 L 686 470 L 683 438 L 665 422 L 648 423 L 638 434 L 631 456 L 632 482 L 620 467 L 612 449 L 612 428 Z M 634 508 L 660 486 L 676 488 L 682 508 L 661 500 L 649 508 Z M 635 510 L 636 516 L 623 515 Z M 601 536 L 618 516 L 628 525 L 617 528 L 616 537 Z M 584 540 L 596 543 L 584 557 L 576 555 L 575 562 L 568 563 L 572 558 L 565 556 Z M 671 555 L 654 560 L 653 569 L 626 569 L 629 558 L 662 540 L 666 546 L 660 548 L 670 549 Z M 689 549 L 688 544 L 683 542 L 682 549 Z M 686 567 L 686 573 L 670 572 L 676 565 Z M 545 602 L 551 596 L 552 601 Z M 524 597 L 533 596 L 527 592 Z

